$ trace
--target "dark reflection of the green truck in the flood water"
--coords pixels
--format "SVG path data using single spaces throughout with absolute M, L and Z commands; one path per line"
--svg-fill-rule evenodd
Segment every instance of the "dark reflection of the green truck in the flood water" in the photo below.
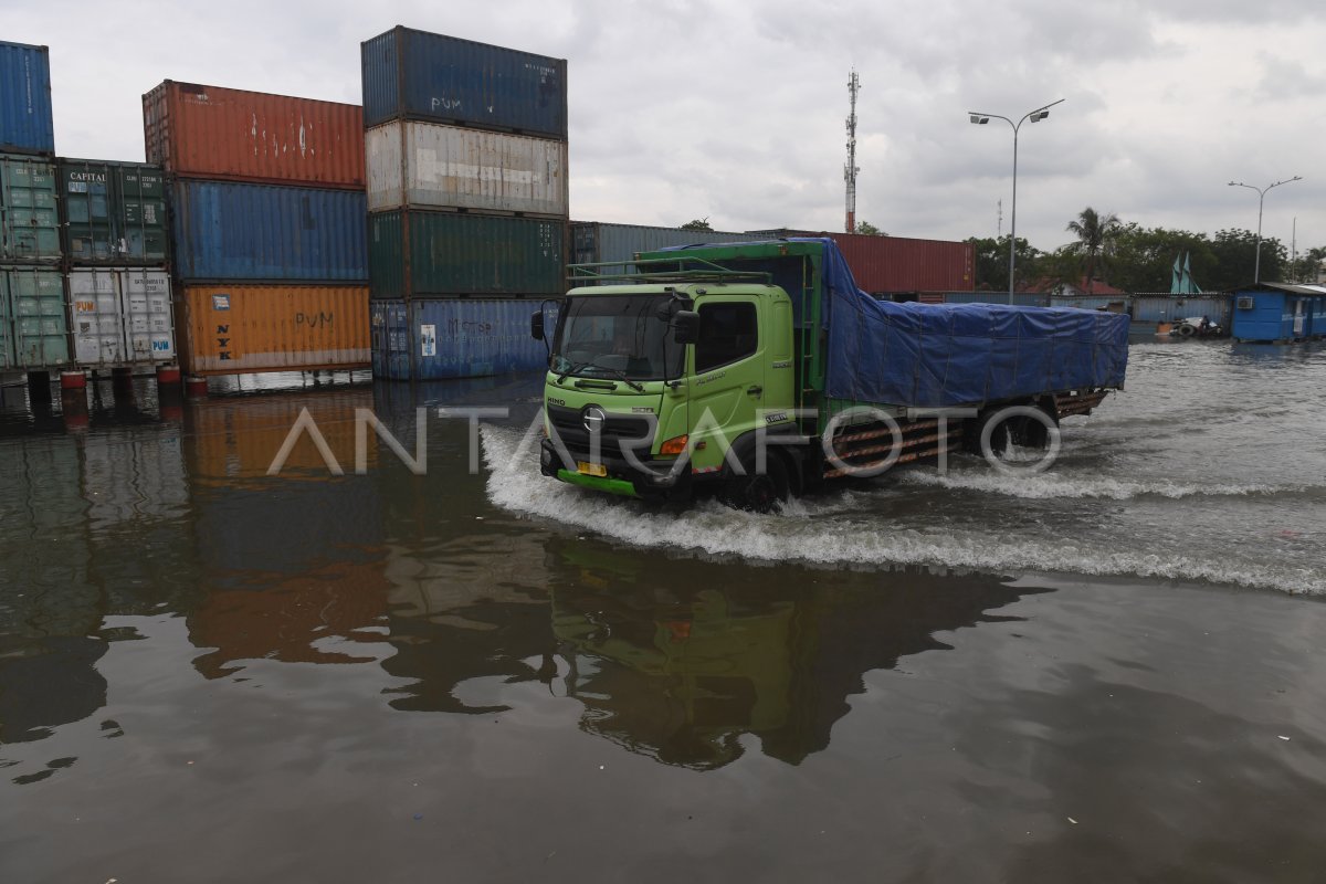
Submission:
M 565 566 L 553 631 L 570 664 L 566 693 L 585 705 L 581 726 L 695 769 L 739 758 L 744 734 L 756 734 L 765 755 L 800 763 L 829 746 L 866 672 L 945 649 L 936 632 L 1008 619 L 988 611 L 1040 591 L 923 575 L 912 588 L 869 578 L 798 588 L 732 566 L 687 582 L 650 577 L 638 557 L 550 547 Z

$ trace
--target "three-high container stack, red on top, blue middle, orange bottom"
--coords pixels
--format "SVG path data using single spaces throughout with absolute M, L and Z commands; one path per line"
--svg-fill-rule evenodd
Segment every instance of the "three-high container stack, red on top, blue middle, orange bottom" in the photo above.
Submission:
M 168 80 L 143 95 L 186 371 L 369 364 L 362 133 L 354 105 Z

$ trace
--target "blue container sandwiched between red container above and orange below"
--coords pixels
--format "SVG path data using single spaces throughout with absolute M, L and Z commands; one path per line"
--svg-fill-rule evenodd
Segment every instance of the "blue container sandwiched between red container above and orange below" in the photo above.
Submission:
M 369 278 L 363 193 L 199 180 L 178 180 L 172 190 L 180 278 Z

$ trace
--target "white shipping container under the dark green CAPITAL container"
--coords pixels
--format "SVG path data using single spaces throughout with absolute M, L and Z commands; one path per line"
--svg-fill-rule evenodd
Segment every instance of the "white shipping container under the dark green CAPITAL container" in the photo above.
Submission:
M 95 368 L 174 362 L 170 274 L 147 268 L 69 272 L 74 362 Z

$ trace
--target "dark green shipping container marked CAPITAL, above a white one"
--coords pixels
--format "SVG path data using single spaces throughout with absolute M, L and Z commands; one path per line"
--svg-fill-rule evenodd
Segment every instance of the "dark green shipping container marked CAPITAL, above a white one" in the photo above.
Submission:
M 159 166 L 65 158 L 57 163 L 61 244 L 70 261 L 166 264 L 166 175 Z

